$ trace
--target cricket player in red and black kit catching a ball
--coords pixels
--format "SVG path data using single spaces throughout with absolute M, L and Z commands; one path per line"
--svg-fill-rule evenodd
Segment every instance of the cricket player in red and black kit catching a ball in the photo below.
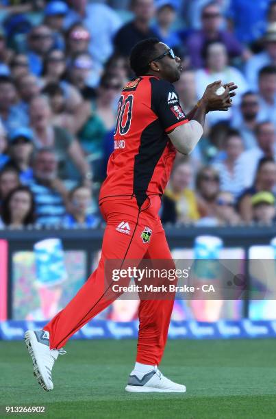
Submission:
M 51 371 L 69 338 L 112 300 L 104 281 L 109 259 L 171 259 L 158 212 L 176 151 L 188 155 L 203 134 L 205 115 L 228 110 L 237 86 L 221 81 L 207 86 L 186 115 L 173 83 L 181 60 L 156 38 L 138 42 L 130 55 L 136 78 L 123 88 L 118 101 L 114 152 L 101 187 L 99 206 L 106 221 L 99 266 L 75 297 L 38 331 L 27 331 L 25 342 L 34 375 L 45 390 L 53 390 Z M 158 369 L 166 344 L 173 299 L 140 301 L 139 333 L 128 392 L 186 392 L 185 385 L 164 377 Z

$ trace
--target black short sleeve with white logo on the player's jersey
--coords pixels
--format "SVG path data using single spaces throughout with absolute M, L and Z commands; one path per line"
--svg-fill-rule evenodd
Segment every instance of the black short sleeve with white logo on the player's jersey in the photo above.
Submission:
M 151 109 L 167 133 L 189 122 L 181 109 L 177 91 L 168 81 L 151 78 Z

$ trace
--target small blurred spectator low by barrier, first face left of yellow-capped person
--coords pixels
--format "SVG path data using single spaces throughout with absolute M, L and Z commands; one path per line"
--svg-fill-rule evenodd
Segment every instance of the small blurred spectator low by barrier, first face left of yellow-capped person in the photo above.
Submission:
M 218 225 L 238 225 L 240 217 L 235 209 L 235 199 L 231 192 L 220 192 L 216 199 Z

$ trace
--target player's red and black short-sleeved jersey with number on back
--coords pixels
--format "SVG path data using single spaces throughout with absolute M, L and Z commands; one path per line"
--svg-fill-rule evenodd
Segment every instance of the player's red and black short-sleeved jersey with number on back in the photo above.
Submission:
M 168 133 L 187 123 L 173 84 L 154 76 L 138 77 L 123 88 L 118 102 L 114 152 L 100 202 L 111 196 L 162 195 L 175 160 Z

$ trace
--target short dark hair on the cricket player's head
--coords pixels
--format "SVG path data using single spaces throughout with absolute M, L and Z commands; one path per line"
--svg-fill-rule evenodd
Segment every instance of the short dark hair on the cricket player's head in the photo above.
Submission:
M 158 42 L 160 42 L 158 38 L 147 38 L 137 42 L 131 49 L 129 62 L 137 76 L 145 75 L 149 71 L 149 62 L 154 58 L 155 45 Z

